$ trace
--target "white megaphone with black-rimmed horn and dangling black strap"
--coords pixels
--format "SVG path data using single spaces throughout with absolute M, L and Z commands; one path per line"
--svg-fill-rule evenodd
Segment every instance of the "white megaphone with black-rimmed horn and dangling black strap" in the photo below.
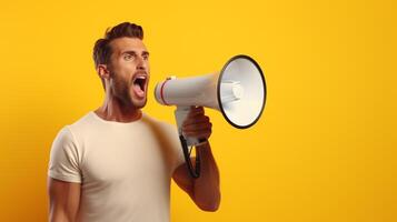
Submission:
M 260 118 L 266 103 L 266 81 L 259 64 L 245 54 L 235 56 L 220 72 L 200 77 L 167 78 L 156 84 L 155 98 L 163 105 L 177 105 L 175 111 L 178 132 L 189 172 L 199 176 L 196 157 L 196 172 L 187 147 L 197 147 L 198 138 L 183 137 L 181 125 L 190 107 L 200 105 L 220 111 L 235 128 L 247 129 Z

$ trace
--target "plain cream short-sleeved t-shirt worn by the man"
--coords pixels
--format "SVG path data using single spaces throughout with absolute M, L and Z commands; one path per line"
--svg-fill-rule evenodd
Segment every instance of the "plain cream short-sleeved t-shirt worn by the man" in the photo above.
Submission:
M 142 113 L 130 123 L 89 112 L 58 133 L 49 176 L 81 183 L 83 222 L 168 222 L 170 181 L 183 163 L 177 129 Z

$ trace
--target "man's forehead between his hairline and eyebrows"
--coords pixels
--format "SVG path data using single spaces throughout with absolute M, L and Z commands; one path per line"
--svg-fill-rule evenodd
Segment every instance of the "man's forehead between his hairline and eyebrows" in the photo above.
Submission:
M 137 53 L 148 51 L 142 40 L 138 38 L 118 38 L 110 42 L 110 47 L 112 49 L 113 54 L 120 54 L 125 51 L 136 51 Z

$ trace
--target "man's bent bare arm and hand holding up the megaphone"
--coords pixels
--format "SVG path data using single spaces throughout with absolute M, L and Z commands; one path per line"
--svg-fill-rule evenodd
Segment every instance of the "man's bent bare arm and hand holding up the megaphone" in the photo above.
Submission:
M 191 178 L 186 163 L 179 165 L 172 174 L 179 188 L 186 191 L 195 203 L 205 211 L 216 211 L 220 203 L 219 171 L 208 142 L 211 127 L 212 124 L 209 122 L 209 118 L 205 115 L 202 107 L 191 108 L 182 124 L 182 131 L 187 137 L 207 140 L 206 143 L 196 148 L 200 155 L 200 176 L 198 179 Z M 195 159 L 191 162 L 195 164 Z

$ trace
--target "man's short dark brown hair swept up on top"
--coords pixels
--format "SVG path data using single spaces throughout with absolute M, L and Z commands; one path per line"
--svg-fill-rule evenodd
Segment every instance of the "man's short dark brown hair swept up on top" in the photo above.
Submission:
M 113 39 L 122 37 L 138 38 L 143 40 L 143 29 L 142 27 L 130 22 L 122 22 L 111 28 L 110 30 L 108 28 L 105 32 L 103 39 L 98 39 L 93 47 L 92 57 L 96 68 L 98 68 L 98 64 L 108 64 L 112 53 L 110 42 Z

